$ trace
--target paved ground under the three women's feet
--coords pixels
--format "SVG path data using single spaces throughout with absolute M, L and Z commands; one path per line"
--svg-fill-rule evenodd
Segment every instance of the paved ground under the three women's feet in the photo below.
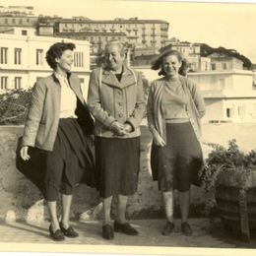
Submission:
M 96 245 L 94 248 L 96 251 L 99 249 L 99 252 L 102 248 L 105 248 L 102 247 L 104 245 L 117 245 L 115 247 L 118 248 L 119 253 L 127 252 L 122 249 L 125 248 L 124 246 L 133 246 L 132 248 L 136 248 L 137 246 L 158 246 L 158 248 L 167 248 L 169 252 L 173 252 L 171 248 L 174 247 L 183 247 L 187 249 L 191 247 L 228 249 L 256 248 L 256 238 L 251 239 L 250 243 L 243 243 L 236 237 L 227 235 L 219 220 L 215 221 L 215 223 L 209 223 L 207 219 L 191 220 L 190 224 L 193 228 L 193 234 L 190 237 L 186 237 L 180 232 L 180 220 L 175 221 L 175 231 L 170 236 L 160 235 L 160 229 L 164 224 L 164 220 L 135 220 L 132 221 L 132 224 L 139 230 L 139 236 L 115 233 L 114 240 L 104 240 L 101 238 L 101 224 L 99 222 L 73 222 L 72 224 L 79 231 L 80 236 L 76 239 L 66 238 L 65 241 L 54 242 L 48 235 L 48 222 L 30 224 L 1 223 L 0 243 L 7 248 L 5 249 L 6 251 L 23 248 L 21 246 L 27 243 L 35 246 L 33 248 L 36 248 L 36 245 L 40 245 L 40 248 L 42 248 L 43 251 L 50 251 L 50 249 L 47 248 L 50 248 L 50 245 L 54 245 L 58 246 L 60 250 L 61 248 L 63 250 L 64 248 L 69 248 L 72 251 L 73 248 L 75 251 L 80 249 L 82 252 L 87 252 L 90 245 Z M 18 244 L 18 247 L 14 247 L 13 244 Z M 66 245 L 69 246 L 67 247 Z M 72 247 L 74 245 L 80 246 Z M 118 245 L 122 246 L 118 247 Z M 29 248 L 31 250 L 32 247 Z M 34 250 L 36 251 L 36 249 Z M 54 249 L 54 251 L 56 250 Z M 151 252 L 151 250 L 149 252 Z M 256 250 L 254 252 L 256 252 Z M 227 254 L 225 253 L 224 255 Z

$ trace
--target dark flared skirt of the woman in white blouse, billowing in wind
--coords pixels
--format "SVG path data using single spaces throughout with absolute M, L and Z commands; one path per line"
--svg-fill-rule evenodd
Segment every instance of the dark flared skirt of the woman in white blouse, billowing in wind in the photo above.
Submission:
M 31 160 L 17 154 L 17 167 L 42 192 L 47 201 L 58 193 L 69 195 L 79 183 L 95 187 L 94 142 L 83 133 L 77 119 L 62 118 L 52 152 L 30 148 Z

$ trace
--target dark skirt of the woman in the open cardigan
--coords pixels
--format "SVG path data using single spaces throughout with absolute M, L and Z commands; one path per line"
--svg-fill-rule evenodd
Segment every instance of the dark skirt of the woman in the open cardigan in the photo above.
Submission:
M 153 169 L 157 169 L 159 189 L 185 192 L 190 185 L 199 185 L 199 170 L 203 166 L 201 145 L 187 123 L 166 124 L 167 144 L 153 146 Z M 156 173 L 155 173 L 156 176 Z

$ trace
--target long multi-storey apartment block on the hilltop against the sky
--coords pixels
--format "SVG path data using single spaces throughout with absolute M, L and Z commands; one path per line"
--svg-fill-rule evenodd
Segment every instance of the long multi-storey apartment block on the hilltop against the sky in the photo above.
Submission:
M 90 42 L 103 48 L 106 40 L 101 33 L 112 33 L 110 36 L 125 34 L 125 42 L 142 47 L 159 49 L 168 38 L 168 23 L 160 20 L 140 20 L 138 18 L 114 20 L 63 19 L 58 22 L 58 34 L 67 32 L 91 32 Z M 116 35 L 114 35 L 116 33 Z M 107 38 L 109 40 L 109 38 Z M 111 39 L 111 38 L 110 38 Z

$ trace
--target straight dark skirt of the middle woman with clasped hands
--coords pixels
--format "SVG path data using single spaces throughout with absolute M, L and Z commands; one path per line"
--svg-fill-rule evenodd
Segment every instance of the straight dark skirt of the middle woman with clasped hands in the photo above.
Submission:
M 138 186 L 140 137 L 96 137 L 97 190 L 103 198 L 133 195 Z

